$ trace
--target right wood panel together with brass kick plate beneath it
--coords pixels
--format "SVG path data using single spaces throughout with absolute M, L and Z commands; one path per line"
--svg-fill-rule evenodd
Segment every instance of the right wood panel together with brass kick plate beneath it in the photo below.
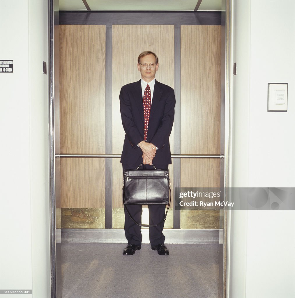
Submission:
M 181 153 L 220 154 L 220 26 L 181 26 Z M 219 159 L 181 160 L 181 187 L 220 187 Z M 182 210 L 181 228 L 214 229 L 219 213 Z

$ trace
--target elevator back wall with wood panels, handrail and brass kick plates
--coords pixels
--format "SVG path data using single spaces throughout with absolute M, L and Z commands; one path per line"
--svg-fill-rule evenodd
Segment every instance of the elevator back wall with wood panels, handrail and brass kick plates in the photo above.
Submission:
M 53 144 L 57 297 L 62 293 L 56 281 L 62 277 L 63 244 L 126 242 L 118 94 L 121 86 L 140 78 L 136 61 L 142 50 L 157 53 L 156 79 L 176 94 L 169 166 L 173 190 L 225 185 L 221 17 L 213 25 L 195 24 L 194 18 L 181 24 L 178 14 L 171 25 L 172 15 L 166 13 L 162 24 L 155 25 L 147 24 L 147 14 L 140 13 L 139 24 L 129 24 L 130 18 L 127 24 L 116 24 L 126 15 L 114 14 L 100 14 L 97 24 L 93 19 L 88 24 L 83 13 L 59 13 Z M 148 211 L 143 209 L 144 222 Z M 172 202 L 164 227 L 166 243 L 216 244 L 217 297 L 224 292 L 225 220 L 223 210 L 175 210 Z M 143 243 L 149 242 L 147 235 L 143 229 Z

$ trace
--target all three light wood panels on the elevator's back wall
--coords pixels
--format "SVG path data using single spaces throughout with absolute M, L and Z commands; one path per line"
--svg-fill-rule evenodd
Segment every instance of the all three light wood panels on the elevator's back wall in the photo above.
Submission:
M 105 26 L 60 26 L 61 153 L 105 152 Z M 140 79 L 137 57 L 159 57 L 156 79 L 174 86 L 174 26 L 112 27 L 112 152 L 121 153 L 123 85 Z M 179 100 L 176 98 L 176 100 Z M 180 111 L 176 111 L 180 112 Z M 220 154 L 220 26 L 181 26 L 181 153 Z M 173 130 L 170 136 L 173 153 Z M 169 167 L 173 179 L 173 167 Z M 104 159 L 61 159 L 61 207 L 104 208 Z M 122 166 L 112 165 L 113 208 Z M 219 159 L 182 159 L 181 187 L 219 187 Z

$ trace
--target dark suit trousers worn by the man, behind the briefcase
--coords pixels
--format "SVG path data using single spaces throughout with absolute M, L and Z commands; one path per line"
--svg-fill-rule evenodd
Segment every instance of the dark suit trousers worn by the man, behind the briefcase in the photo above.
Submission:
M 137 165 L 128 165 L 123 164 L 123 170 L 130 170 L 130 169 L 136 169 L 140 163 Z M 155 167 L 157 169 L 168 169 L 168 164 L 165 165 L 156 165 Z M 153 166 L 150 166 L 149 164 L 143 164 L 140 169 L 154 169 Z M 164 215 L 165 215 L 165 208 L 166 205 L 148 205 L 149 206 L 149 224 L 157 224 L 159 223 Z M 129 213 L 131 216 L 141 224 L 141 214 L 142 214 L 142 205 L 128 205 L 127 206 Z M 135 224 L 134 221 L 130 218 L 129 214 L 126 211 L 126 208 L 124 208 L 125 212 L 125 236 L 128 241 L 128 244 L 135 244 L 135 245 L 141 245 L 142 241 L 142 235 L 140 231 L 140 226 Z M 165 242 L 165 236 L 163 235 L 163 227 L 164 227 L 165 221 L 163 221 L 161 224 L 155 227 L 149 227 L 149 242 L 152 246 L 156 246 L 160 243 Z

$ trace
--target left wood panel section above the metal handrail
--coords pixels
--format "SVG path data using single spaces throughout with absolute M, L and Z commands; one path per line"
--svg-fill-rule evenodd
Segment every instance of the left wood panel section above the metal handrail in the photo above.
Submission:
M 60 26 L 61 153 L 105 152 L 105 26 Z

